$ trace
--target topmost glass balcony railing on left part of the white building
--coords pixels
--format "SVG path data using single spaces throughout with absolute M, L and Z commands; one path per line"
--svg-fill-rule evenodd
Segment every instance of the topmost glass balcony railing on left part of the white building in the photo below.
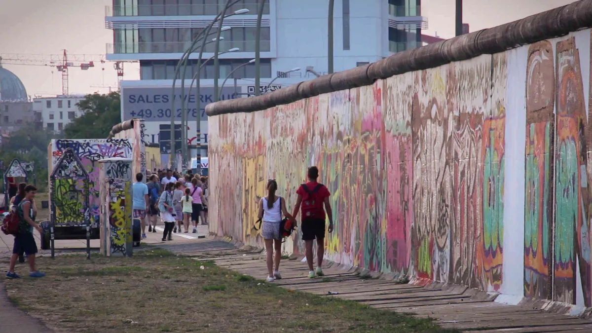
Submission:
M 177 15 L 218 15 L 224 4 L 196 5 L 136 5 L 136 6 L 105 6 L 105 16 L 177 16 Z M 234 5 L 228 12 L 238 9 L 249 9 L 249 14 L 257 15 L 256 0 L 247 0 L 245 4 Z M 263 7 L 263 14 L 269 14 L 269 2 Z

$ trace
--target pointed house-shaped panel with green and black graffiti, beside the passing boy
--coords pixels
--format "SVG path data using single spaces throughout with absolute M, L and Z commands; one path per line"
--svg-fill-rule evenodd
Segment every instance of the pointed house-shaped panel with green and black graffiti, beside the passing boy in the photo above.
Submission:
M 66 149 L 50 175 L 52 224 L 85 226 L 89 223 L 89 177 L 72 149 Z

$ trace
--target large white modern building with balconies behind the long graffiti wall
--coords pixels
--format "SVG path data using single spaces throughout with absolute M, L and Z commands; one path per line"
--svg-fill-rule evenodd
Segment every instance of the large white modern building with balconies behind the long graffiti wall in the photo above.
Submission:
M 220 52 L 234 47 L 240 50 L 220 55 L 220 85 L 231 71 L 255 57 L 257 2 L 240 0 L 230 12 L 243 8 L 249 12 L 224 20 L 223 26 L 230 30 L 221 33 L 224 40 L 220 41 Z M 262 93 L 327 73 L 328 2 L 266 1 L 260 35 Z M 225 3 L 226 0 L 113 0 L 112 7 L 106 10 L 105 25 L 114 31 L 114 43 L 107 45 L 107 59 L 140 62 L 140 80 L 121 82 L 121 120 L 145 119 L 148 142 L 161 143 L 163 162 L 170 151 L 170 142 L 167 150 L 162 141 L 170 140 L 170 94 L 175 66 L 192 37 L 210 24 Z M 421 29 L 427 28 L 427 18 L 421 16 L 420 0 L 335 0 L 333 26 L 333 66 L 334 72 L 338 72 L 418 46 Z M 202 59 L 213 56 L 214 47 L 215 43 L 208 44 Z M 190 56 L 186 87 L 198 75 L 197 57 L 198 53 Z M 294 68 L 300 69 L 285 73 Z M 203 109 L 213 97 L 213 61 L 205 63 L 199 77 L 203 101 L 201 142 L 207 147 L 207 117 Z M 266 89 L 271 81 L 273 84 Z M 180 86 L 178 80 L 175 95 L 180 94 Z M 220 99 L 247 97 L 254 87 L 255 64 L 249 63 L 230 76 Z M 188 140 L 193 142 L 197 127 L 195 96 L 189 100 Z M 180 117 L 177 124 L 178 120 Z M 169 133 L 164 133 L 167 130 Z M 207 148 L 202 155 L 207 156 Z

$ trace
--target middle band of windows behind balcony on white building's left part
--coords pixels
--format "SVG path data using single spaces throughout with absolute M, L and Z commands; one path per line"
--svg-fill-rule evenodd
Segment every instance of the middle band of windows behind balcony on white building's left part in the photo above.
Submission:
M 114 44 L 109 53 L 183 53 L 202 28 L 141 28 L 115 29 Z M 220 50 L 238 47 L 240 52 L 255 52 L 255 27 L 233 27 L 221 35 Z M 215 35 L 210 35 L 214 38 Z M 271 50 L 269 27 L 261 27 L 261 51 Z M 214 52 L 215 43 L 205 46 L 204 52 Z

